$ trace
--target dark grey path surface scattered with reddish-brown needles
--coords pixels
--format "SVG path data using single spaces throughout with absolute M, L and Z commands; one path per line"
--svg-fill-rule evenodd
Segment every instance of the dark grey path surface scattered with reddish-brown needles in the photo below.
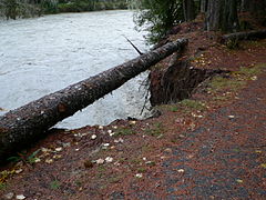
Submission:
M 147 191 L 132 186 L 126 199 L 266 199 L 265 83 L 264 69 L 235 103 L 211 113 L 182 146 L 170 148 L 162 170 L 144 178 Z

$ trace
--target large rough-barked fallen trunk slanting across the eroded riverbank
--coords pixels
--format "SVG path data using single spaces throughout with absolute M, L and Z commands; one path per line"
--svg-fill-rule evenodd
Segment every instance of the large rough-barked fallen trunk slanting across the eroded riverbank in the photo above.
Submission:
M 0 161 L 32 143 L 59 121 L 117 89 L 173 52 L 182 51 L 187 42 L 187 39 L 170 42 L 0 117 Z

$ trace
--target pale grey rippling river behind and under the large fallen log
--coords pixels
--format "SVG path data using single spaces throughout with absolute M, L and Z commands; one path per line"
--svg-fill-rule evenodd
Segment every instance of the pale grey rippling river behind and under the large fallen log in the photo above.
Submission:
M 132 11 L 51 14 L 0 21 L 0 114 L 137 57 L 146 51 Z M 146 118 L 141 110 L 147 72 L 57 124 L 74 129 L 115 119 Z M 147 107 L 150 107 L 147 104 Z

